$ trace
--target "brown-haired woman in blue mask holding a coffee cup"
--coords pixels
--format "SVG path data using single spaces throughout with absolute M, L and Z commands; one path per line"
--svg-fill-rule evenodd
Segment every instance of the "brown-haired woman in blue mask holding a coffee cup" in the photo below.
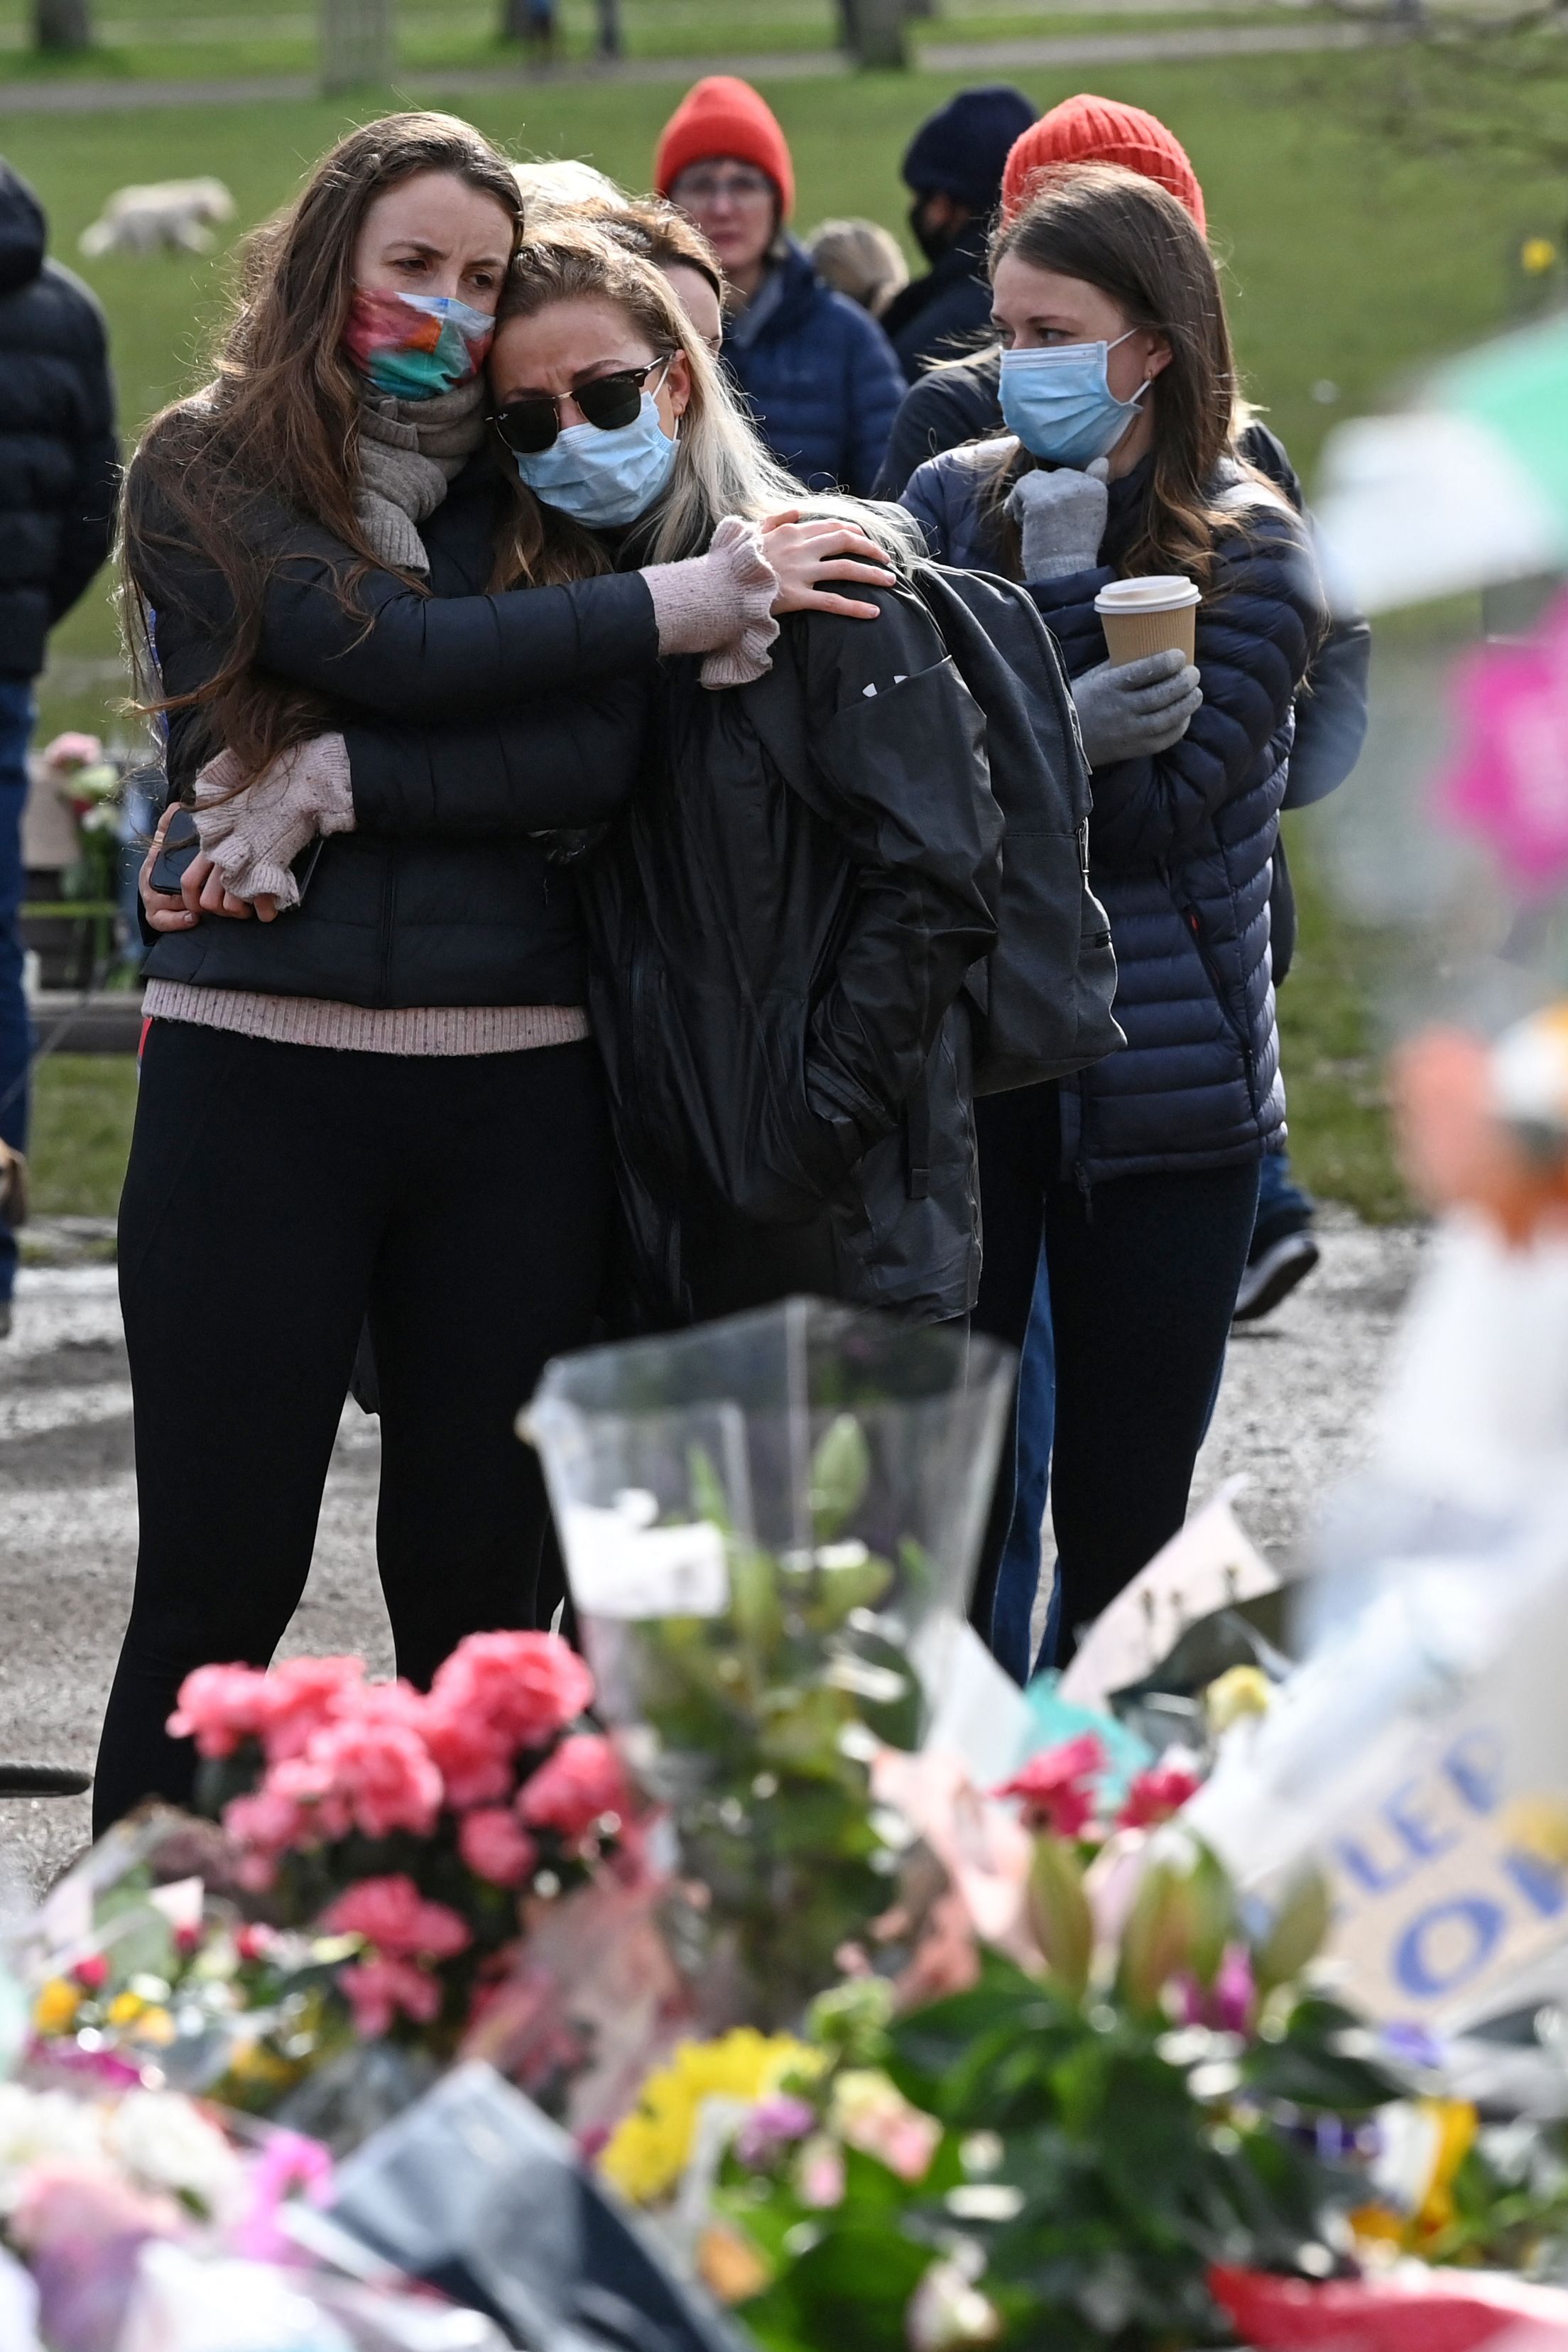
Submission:
M 1269 870 L 1324 612 L 1298 515 L 1237 454 L 1225 301 L 1182 205 L 1107 165 L 1051 174 L 990 273 L 1006 433 L 931 459 L 903 503 L 940 560 L 1027 581 L 1093 769 L 1126 1051 L 976 1105 L 976 1322 L 1013 1345 L 1046 1244 L 1067 1656 L 1182 1524 L 1284 1127 Z M 1011 1503 L 1009 1468 L 985 1632 Z

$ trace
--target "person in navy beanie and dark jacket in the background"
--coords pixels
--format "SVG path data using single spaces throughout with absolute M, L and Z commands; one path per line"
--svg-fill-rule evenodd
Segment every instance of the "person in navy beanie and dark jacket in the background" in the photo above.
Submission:
M 910 230 L 931 270 L 882 318 L 910 383 L 990 329 L 985 238 L 1006 158 L 1032 122 L 1023 89 L 985 82 L 959 89 L 910 139 L 903 158 L 903 179 L 914 193 Z

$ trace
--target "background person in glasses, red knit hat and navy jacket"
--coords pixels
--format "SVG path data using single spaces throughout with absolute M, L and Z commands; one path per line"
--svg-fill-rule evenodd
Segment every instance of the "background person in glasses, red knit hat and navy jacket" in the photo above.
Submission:
M 724 263 L 724 358 L 773 456 L 811 489 L 870 496 L 905 379 L 882 327 L 785 230 L 795 167 L 773 108 L 729 73 L 698 82 L 663 129 L 654 183 Z

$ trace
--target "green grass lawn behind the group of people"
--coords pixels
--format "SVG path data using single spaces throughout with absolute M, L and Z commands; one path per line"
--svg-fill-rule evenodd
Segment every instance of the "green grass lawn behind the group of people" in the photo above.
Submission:
M 790 5 L 802 5 L 797 31 L 811 31 L 804 0 Z M 1340 414 L 1375 405 L 1425 360 L 1502 325 L 1516 294 L 1521 240 L 1556 233 L 1568 212 L 1561 167 L 1521 146 L 1523 132 L 1537 127 L 1544 139 L 1568 113 L 1561 42 L 1098 66 L 1018 80 L 1039 106 L 1088 80 L 1175 125 L 1204 179 L 1227 263 L 1248 390 L 1307 473 Z M 802 226 L 860 212 L 900 228 L 898 155 L 912 125 L 959 78 L 863 75 L 764 87 L 795 148 Z M 216 172 L 235 191 L 237 228 L 249 226 L 299 186 L 334 134 L 386 96 L 54 120 L 7 120 L 0 99 L 0 151 L 38 186 L 56 252 L 75 261 L 80 230 L 125 181 Z M 515 153 L 590 155 L 637 188 L 646 183 L 672 92 L 541 82 L 456 103 Z M 223 256 L 78 266 L 108 310 L 122 414 L 134 433 L 158 405 L 200 381 L 223 306 Z M 45 727 L 106 724 L 118 691 L 115 644 L 103 583 L 54 637 Z M 108 717 L 108 724 L 120 722 Z M 1354 790 L 1375 790 L 1375 781 L 1361 776 Z M 1389 1214 L 1401 1195 L 1375 1098 L 1366 957 L 1314 896 L 1309 842 L 1312 821 L 1298 851 L 1307 901 L 1302 957 L 1281 997 L 1293 1138 L 1316 1185 Z M 73 1091 L 61 1073 L 47 1087 Z M 96 1150 L 82 1148 L 82 1167 L 101 1164 Z M 54 1152 L 45 1127 L 40 1155 L 49 1185 Z M 66 1190 L 73 1181 L 59 1176 Z

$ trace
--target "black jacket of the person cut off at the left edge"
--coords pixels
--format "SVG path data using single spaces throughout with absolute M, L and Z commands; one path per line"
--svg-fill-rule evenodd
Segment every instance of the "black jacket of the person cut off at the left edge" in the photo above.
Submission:
M 103 313 L 45 261 L 38 198 L 0 162 L 0 677 L 35 677 L 108 555 L 120 489 Z

